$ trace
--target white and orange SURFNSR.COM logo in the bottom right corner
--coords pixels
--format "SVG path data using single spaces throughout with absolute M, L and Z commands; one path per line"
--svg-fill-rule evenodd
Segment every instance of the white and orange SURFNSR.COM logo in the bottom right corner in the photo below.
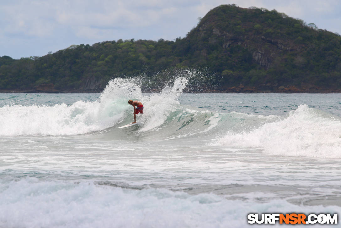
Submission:
M 249 224 L 338 224 L 338 214 L 249 214 Z

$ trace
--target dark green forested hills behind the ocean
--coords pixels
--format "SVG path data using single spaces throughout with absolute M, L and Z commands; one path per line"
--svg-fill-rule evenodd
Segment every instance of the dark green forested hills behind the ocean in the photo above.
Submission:
M 276 10 L 221 5 L 175 41 L 105 41 L 42 57 L 0 57 L 0 89 L 53 83 L 58 90 L 95 90 L 118 76 L 153 80 L 184 68 L 211 72 L 218 89 L 337 89 L 341 37 Z

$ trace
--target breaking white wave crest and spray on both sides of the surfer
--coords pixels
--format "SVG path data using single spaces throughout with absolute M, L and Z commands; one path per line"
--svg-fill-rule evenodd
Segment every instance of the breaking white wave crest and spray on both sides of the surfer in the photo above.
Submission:
M 145 104 L 145 115 L 139 115 L 140 131 L 158 129 L 169 112 L 176 110 L 178 96 L 188 79 L 178 77 L 173 86 L 166 85 L 159 94 L 143 96 L 134 79 L 115 78 L 94 102 L 78 100 L 72 105 L 6 105 L 0 107 L 0 136 L 77 135 L 111 128 L 132 119 L 129 99 Z M 148 107 L 148 108 L 147 108 Z

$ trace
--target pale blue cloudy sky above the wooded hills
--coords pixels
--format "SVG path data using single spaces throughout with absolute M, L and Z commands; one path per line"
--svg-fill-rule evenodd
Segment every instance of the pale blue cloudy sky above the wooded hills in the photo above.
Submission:
M 43 56 L 107 40 L 174 40 L 221 4 L 276 9 L 341 34 L 339 0 L 0 0 L 0 56 Z

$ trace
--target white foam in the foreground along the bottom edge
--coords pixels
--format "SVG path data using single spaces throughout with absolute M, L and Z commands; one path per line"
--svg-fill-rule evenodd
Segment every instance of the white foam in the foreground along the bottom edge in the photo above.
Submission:
M 246 227 L 247 214 L 252 212 L 333 214 L 341 209 L 293 205 L 285 200 L 243 202 L 206 193 L 133 190 L 38 178 L 2 183 L 0 193 L 0 227 L 9 228 Z

